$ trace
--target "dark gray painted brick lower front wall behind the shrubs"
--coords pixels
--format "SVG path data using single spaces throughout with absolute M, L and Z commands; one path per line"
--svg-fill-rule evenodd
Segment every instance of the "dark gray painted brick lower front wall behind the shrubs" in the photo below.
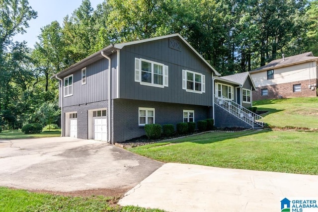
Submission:
M 183 110 L 194 110 L 194 121 L 212 118 L 211 107 L 173 104 L 154 101 L 129 99 L 113 100 L 113 131 L 114 142 L 122 142 L 145 135 L 144 127 L 139 126 L 139 107 L 155 108 L 156 124 L 176 124 L 183 122 Z

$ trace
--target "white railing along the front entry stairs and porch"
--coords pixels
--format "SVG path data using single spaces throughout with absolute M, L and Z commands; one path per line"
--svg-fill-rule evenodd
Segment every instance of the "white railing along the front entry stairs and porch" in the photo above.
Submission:
M 228 111 L 232 115 L 238 117 L 240 120 L 244 121 L 248 125 L 250 125 L 254 129 L 254 124 L 259 125 L 260 127 L 264 127 L 263 122 L 259 122 L 257 120 L 263 118 L 256 113 L 244 108 L 238 103 L 227 99 L 225 97 L 217 97 L 215 96 L 214 103 L 222 107 L 224 110 Z

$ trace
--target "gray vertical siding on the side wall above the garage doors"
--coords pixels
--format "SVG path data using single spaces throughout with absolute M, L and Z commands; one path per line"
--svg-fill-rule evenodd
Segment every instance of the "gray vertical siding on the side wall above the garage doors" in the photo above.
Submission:
M 111 56 L 112 87 L 117 87 L 117 58 Z M 81 69 L 73 73 L 73 95 L 64 97 L 63 106 L 82 105 L 91 102 L 108 100 L 108 60 L 101 59 L 86 67 L 86 84 L 81 83 Z M 68 75 L 66 75 L 68 76 Z M 63 80 L 64 77 L 63 76 Z M 64 89 L 64 88 L 63 88 Z M 117 89 L 112 89 L 112 97 L 117 95 Z

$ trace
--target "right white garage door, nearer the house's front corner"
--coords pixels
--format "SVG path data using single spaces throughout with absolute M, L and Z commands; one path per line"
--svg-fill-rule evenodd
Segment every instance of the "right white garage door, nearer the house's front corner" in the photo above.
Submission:
M 107 141 L 106 110 L 93 111 L 93 139 Z

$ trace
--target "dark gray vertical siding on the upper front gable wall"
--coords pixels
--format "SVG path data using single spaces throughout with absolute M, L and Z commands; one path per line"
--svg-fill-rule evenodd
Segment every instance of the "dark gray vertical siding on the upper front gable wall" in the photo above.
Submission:
M 169 39 L 130 45 L 120 50 L 120 98 L 211 106 L 212 71 L 181 41 L 180 44 L 181 51 L 169 48 Z M 158 88 L 135 82 L 135 58 L 168 66 L 169 86 Z M 206 92 L 198 94 L 183 90 L 182 70 L 204 74 Z

